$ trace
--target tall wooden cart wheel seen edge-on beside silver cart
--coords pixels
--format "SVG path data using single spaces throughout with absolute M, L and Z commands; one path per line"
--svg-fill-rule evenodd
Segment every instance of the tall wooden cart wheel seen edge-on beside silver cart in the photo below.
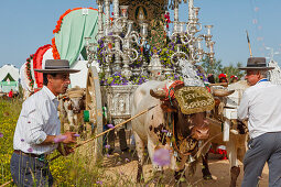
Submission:
M 102 132 L 102 107 L 98 73 L 95 66 L 88 68 L 86 87 L 86 111 L 88 122 L 91 127 L 91 134 L 95 136 Z M 95 163 L 102 158 L 102 136 L 95 139 L 91 143 L 91 154 Z

